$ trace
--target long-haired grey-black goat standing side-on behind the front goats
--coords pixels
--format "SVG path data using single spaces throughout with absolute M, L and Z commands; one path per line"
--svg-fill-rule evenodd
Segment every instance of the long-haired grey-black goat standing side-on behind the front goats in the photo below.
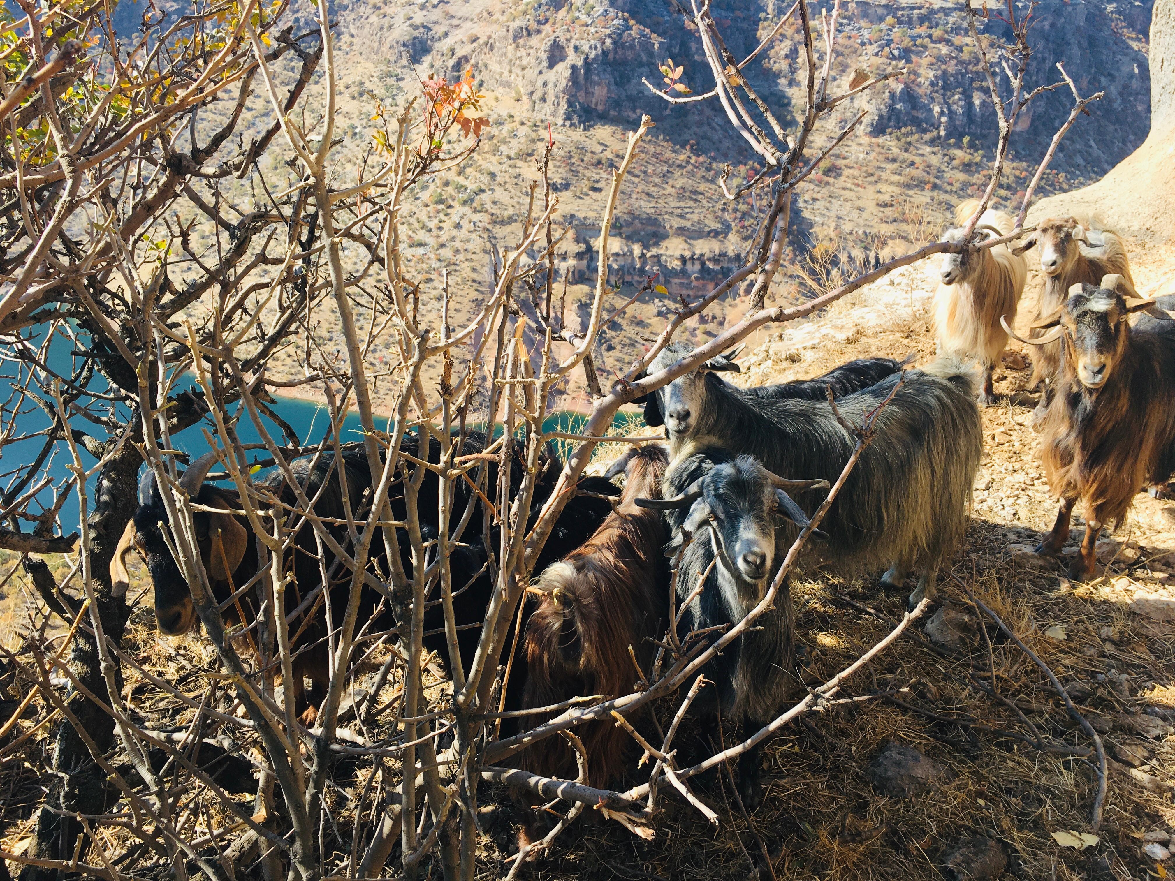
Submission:
M 687 343 L 671 343 L 650 372 L 691 351 Z M 719 446 L 754 456 L 776 473 L 830 482 L 840 476 L 857 439 L 827 401 L 757 398 L 712 370 L 707 362 L 650 395 L 664 413 L 671 456 L 682 456 L 687 444 Z M 825 518 L 830 539 L 821 556 L 848 569 L 892 564 L 881 578 L 887 589 L 900 587 L 918 566 L 911 597 L 916 604 L 934 596 L 938 569 L 962 538 L 982 431 L 973 377 L 951 357 L 846 395 L 838 409 L 860 424 L 891 394 L 878 413 L 877 438 Z

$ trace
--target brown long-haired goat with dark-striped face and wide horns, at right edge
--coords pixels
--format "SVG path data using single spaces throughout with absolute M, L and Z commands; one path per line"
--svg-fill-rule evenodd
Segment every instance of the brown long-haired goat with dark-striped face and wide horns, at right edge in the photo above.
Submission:
M 1060 553 L 1080 499 L 1086 533 L 1069 565 L 1085 581 L 1097 567 L 1095 543 L 1109 520 L 1121 525 L 1134 495 L 1175 470 L 1175 322 L 1132 312 L 1153 307 L 1123 296 L 1115 274 L 1074 284 L 1066 302 L 1034 324 L 1049 330 L 1034 347 L 1060 342 L 1056 392 L 1042 425 L 1045 475 L 1061 510 L 1038 553 Z M 1019 338 L 1019 337 L 1018 337 Z

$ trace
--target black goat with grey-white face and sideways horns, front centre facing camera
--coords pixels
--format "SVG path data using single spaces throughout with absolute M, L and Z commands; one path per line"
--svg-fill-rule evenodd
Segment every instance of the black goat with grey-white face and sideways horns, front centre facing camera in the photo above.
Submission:
M 672 529 L 666 553 L 678 561 L 677 597 L 686 632 L 716 640 L 763 600 L 779 571 L 790 540 L 777 530 L 783 516 L 800 527 L 803 510 L 786 490 L 827 487 L 826 480 L 785 480 L 751 456 L 709 448 L 677 457 L 663 480 L 663 499 L 638 499 L 642 507 L 665 511 Z M 686 543 L 686 539 L 690 538 Z M 705 577 L 705 581 L 701 581 Z M 778 715 L 795 686 L 794 616 L 787 583 L 770 610 L 754 620 L 704 674 L 714 682 L 712 698 L 696 707 L 720 712 L 745 732 L 759 731 Z M 709 692 L 709 690 L 707 690 Z M 759 753 L 739 759 L 739 794 L 753 808 L 761 801 Z

